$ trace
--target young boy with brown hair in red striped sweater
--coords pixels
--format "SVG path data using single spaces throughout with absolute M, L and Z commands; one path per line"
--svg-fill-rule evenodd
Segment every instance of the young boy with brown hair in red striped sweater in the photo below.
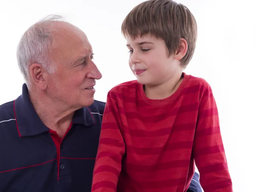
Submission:
M 195 50 L 194 16 L 149 0 L 122 23 L 137 81 L 113 87 L 102 122 L 93 192 L 232 192 L 218 110 L 209 84 L 183 70 Z

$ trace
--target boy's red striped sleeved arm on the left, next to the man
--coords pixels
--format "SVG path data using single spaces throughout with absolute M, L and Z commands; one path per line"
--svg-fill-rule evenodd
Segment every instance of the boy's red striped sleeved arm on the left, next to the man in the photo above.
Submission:
M 117 98 L 114 93 L 109 92 L 93 171 L 92 192 L 116 192 L 121 160 L 125 153 L 121 127 Z

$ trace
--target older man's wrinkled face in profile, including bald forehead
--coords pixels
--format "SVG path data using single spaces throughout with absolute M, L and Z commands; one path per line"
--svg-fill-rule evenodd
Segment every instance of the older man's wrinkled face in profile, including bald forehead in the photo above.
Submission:
M 55 34 L 51 53 L 56 72 L 47 76 L 48 96 L 64 108 L 91 105 L 93 86 L 102 74 L 92 61 L 93 49 L 87 36 L 75 26 L 68 26 Z

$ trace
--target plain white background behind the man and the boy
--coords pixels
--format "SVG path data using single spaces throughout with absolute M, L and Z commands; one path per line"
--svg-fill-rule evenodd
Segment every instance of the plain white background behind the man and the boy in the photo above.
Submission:
M 29 26 L 61 14 L 82 29 L 102 72 L 95 98 L 135 79 L 120 28 L 141 0 L 0 0 L 0 104 L 16 99 L 23 77 L 16 61 L 17 43 Z M 185 70 L 206 79 L 218 105 L 221 134 L 235 192 L 256 192 L 256 14 L 254 0 L 180 0 L 198 23 L 195 55 Z

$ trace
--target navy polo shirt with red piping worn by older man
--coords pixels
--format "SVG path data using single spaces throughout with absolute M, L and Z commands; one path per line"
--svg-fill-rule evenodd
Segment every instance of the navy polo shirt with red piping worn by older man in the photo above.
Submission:
M 104 102 L 77 110 L 61 140 L 39 119 L 26 84 L 0 106 L 0 192 L 90 192 Z

